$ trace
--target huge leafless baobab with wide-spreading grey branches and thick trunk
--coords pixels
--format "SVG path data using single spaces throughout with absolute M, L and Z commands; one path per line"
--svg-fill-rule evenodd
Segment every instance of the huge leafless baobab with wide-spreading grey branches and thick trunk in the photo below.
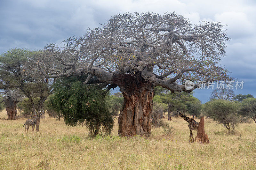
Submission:
M 230 80 L 219 64 L 228 39 L 219 22 L 192 25 L 174 12 L 124 13 L 62 47 L 50 44 L 38 66 L 47 78 L 89 74 L 85 84 L 119 86 L 118 134 L 150 136 L 154 87 L 191 92 L 201 81 Z M 190 90 L 188 79 L 195 83 Z

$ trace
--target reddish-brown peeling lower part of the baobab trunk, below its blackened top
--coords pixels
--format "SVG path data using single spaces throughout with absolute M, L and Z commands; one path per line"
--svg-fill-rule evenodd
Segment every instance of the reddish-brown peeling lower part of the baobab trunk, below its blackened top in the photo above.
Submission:
M 127 95 L 118 118 L 118 134 L 122 136 L 151 136 L 154 89 L 142 88 L 140 93 Z

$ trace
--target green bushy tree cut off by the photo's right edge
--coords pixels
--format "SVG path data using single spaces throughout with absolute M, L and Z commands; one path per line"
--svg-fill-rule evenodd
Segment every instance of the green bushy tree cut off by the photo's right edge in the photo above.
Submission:
M 239 111 L 239 114 L 253 119 L 256 123 L 256 99 L 244 99 L 241 103 L 241 109 Z

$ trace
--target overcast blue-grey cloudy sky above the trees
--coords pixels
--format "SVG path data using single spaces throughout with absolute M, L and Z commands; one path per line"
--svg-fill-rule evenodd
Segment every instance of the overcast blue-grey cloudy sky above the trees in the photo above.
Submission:
M 236 94 L 256 97 L 255 9 L 255 0 L 0 0 L 0 54 L 14 47 L 38 50 L 69 36 L 81 36 L 119 11 L 174 11 L 194 24 L 207 20 L 228 25 L 231 40 L 221 63 L 232 77 L 244 81 L 243 90 L 234 90 Z M 195 97 L 204 103 L 210 93 L 196 89 Z

